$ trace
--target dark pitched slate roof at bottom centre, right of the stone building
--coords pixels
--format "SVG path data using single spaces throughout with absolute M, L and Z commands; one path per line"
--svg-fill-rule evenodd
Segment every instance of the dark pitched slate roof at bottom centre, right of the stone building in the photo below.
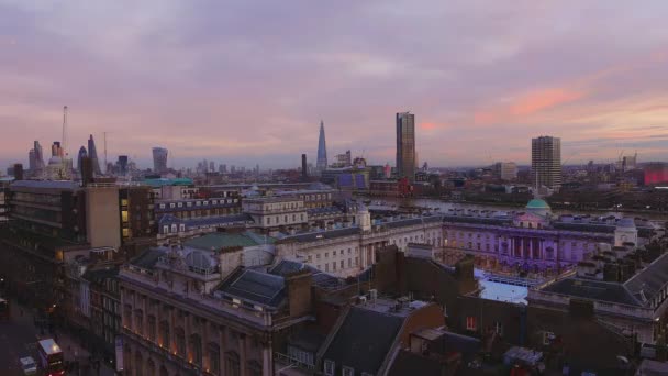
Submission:
M 403 318 L 352 307 L 324 353 L 336 368 L 352 367 L 355 374 L 376 375 L 392 350 Z M 338 374 L 338 373 L 337 373 Z

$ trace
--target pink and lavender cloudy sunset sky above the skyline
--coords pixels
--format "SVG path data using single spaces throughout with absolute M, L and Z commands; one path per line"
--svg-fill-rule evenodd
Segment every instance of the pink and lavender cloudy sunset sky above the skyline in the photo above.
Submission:
M 668 161 L 668 1 L 0 0 L 0 164 L 89 134 L 102 158 L 394 164 L 415 113 L 431 166 Z

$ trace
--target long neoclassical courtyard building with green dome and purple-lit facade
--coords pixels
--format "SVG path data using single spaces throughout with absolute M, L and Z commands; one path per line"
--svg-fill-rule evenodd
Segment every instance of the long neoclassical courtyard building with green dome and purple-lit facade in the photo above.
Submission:
M 276 244 L 276 256 L 352 277 L 374 264 L 375 250 L 397 245 L 405 251 L 409 243 L 421 243 L 432 245 L 436 258 L 448 265 L 472 255 L 481 268 L 559 270 L 587 259 L 601 247 L 642 245 L 650 234 L 652 224 L 639 219 L 555 218 L 539 199 L 530 201 L 523 211 L 504 214 L 454 210 L 427 215 L 376 215 L 371 220 L 363 208 L 347 226 L 282 237 Z

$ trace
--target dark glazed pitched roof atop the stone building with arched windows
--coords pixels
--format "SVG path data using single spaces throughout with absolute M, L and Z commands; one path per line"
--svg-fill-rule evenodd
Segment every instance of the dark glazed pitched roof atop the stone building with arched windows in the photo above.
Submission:
M 286 297 L 285 279 L 268 273 L 242 269 L 219 288 L 223 296 L 277 308 Z

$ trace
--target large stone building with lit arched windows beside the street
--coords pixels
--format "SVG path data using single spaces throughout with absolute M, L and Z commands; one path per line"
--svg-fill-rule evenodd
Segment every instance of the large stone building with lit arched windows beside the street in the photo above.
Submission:
M 121 270 L 126 374 L 274 375 L 274 349 L 311 320 L 312 273 L 244 268 L 245 252 L 159 247 Z

